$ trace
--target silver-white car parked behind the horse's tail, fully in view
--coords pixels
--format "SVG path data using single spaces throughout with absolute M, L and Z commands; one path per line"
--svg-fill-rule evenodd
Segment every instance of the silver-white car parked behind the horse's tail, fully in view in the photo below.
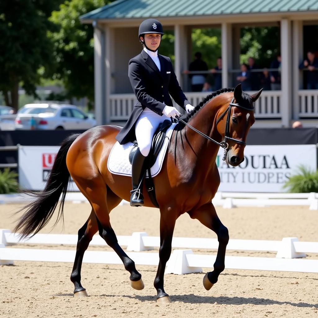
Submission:
M 78 130 L 94 126 L 96 120 L 73 105 L 28 104 L 18 111 L 15 120 L 15 128 L 22 130 Z

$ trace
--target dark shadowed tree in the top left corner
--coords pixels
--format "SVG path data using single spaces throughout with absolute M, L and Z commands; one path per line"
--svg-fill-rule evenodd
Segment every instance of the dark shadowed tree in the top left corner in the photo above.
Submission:
M 55 26 L 48 17 L 61 2 L 0 1 L 0 91 L 8 106 L 17 109 L 19 84 L 36 96 L 39 68 L 52 67 L 53 47 L 46 32 Z

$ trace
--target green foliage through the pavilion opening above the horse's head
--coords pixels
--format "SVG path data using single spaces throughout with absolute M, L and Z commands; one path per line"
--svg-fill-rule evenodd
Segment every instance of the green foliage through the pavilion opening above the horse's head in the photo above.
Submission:
M 275 56 L 280 53 L 280 28 L 245 27 L 241 28 L 240 63 L 247 63 L 253 57 L 260 67 L 269 67 Z

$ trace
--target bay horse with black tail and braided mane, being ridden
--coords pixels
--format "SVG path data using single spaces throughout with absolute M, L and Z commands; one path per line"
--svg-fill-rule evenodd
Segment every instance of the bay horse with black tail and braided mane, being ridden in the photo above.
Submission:
M 174 129 L 162 170 L 154 178 L 160 208 L 160 260 L 154 281 L 157 302 L 171 302 L 164 291 L 163 278 L 176 219 L 181 214 L 188 213 L 217 234 L 219 247 L 213 271 L 206 273 L 203 279 L 207 290 L 218 281 L 225 268 L 229 233 L 211 203 L 220 184 L 216 157 L 222 146 L 228 164 L 238 166 L 244 160 L 245 140 L 255 121 L 253 103 L 261 91 L 249 95 L 242 92 L 240 84 L 234 92 L 233 89 L 217 91 L 202 100 Z M 20 230 L 22 237 L 39 232 L 52 218 L 61 196 L 57 223 L 63 217 L 63 204 L 72 176 L 92 207 L 90 216 L 78 231 L 71 273 L 74 297 L 87 296 L 81 285 L 81 266 L 84 252 L 96 232 L 121 258 L 130 273 L 131 286 L 137 290 L 144 287 L 134 261 L 119 246 L 109 218 L 110 211 L 122 199 L 129 201 L 131 190 L 129 177 L 112 174 L 107 169 L 108 156 L 119 130 L 118 126 L 99 126 L 66 138 L 56 156 L 45 190 L 33 193 L 35 200 L 22 208 L 26 211 L 14 230 Z M 147 191 L 144 193 L 145 206 L 154 207 Z

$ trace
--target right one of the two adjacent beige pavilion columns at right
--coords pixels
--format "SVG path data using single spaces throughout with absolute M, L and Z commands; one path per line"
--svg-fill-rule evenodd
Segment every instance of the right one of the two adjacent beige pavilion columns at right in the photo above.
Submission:
M 299 119 L 299 98 L 298 91 L 303 87 L 302 72 L 299 64 L 303 59 L 303 33 L 302 21 L 293 21 L 293 119 Z

